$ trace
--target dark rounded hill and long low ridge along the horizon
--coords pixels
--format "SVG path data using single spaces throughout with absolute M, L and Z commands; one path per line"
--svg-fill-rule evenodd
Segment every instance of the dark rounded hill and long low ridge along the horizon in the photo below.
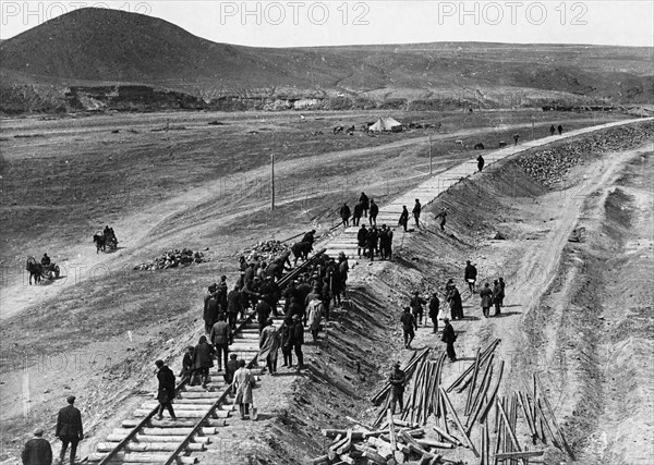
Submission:
M 107 96 L 125 85 L 137 91 L 119 98 L 119 109 L 152 98 L 167 108 L 170 91 L 192 96 L 185 105 L 193 108 L 234 110 L 627 103 L 652 101 L 652 59 L 647 48 L 565 45 L 251 48 L 211 42 L 150 16 L 87 8 L 2 41 L 0 90 L 4 111 L 38 110 L 21 108 L 25 95 L 66 110 L 116 108 Z

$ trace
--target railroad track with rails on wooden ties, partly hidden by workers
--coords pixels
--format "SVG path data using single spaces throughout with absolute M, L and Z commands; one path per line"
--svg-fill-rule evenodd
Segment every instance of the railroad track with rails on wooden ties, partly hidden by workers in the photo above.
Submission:
M 310 269 L 316 258 L 325 253 L 318 252 L 299 267 L 284 274 L 279 281 L 280 291 L 299 274 Z M 283 301 L 280 301 L 279 315 L 283 315 Z M 255 311 L 247 315 L 234 331 L 234 342 L 230 353 L 237 353 L 247 362 L 253 375 L 263 371 L 256 365 L 258 354 L 258 325 L 254 321 Z M 272 317 L 276 323 L 282 317 Z M 118 464 L 195 464 L 198 458 L 194 453 L 206 451 L 211 437 L 218 429 L 227 426 L 228 418 L 235 409 L 229 395 L 229 386 L 223 381 L 223 372 L 211 368 L 207 389 L 186 386 L 181 381 L 175 387 L 173 401 L 177 420 L 157 420 L 156 400 L 145 401 L 141 408 L 133 413 L 132 419 L 122 421 L 122 428 L 114 429 L 104 442 L 96 445 L 96 452 L 83 460 L 84 463 L 97 465 Z

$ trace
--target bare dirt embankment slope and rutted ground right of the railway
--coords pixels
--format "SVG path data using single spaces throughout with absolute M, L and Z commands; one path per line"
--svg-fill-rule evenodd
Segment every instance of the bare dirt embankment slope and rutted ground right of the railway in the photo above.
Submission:
M 366 399 L 382 386 L 389 364 L 404 360 L 410 354 L 402 347 L 398 321 L 410 293 L 440 290 L 450 277 L 462 284 L 462 265 L 472 258 L 480 269 L 480 282 L 492 282 L 499 276 L 505 278 L 507 306 L 501 318 L 486 320 L 482 317 L 479 297 L 462 292 L 467 317 L 455 322 L 460 362 L 445 368 L 445 384 L 471 363 L 477 347 L 501 338 L 498 355 L 507 364 L 505 374 L 508 376 L 500 395 L 524 389 L 523 380 L 538 372 L 579 463 L 646 463 L 646 446 L 631 451 L 622 441 L 630 437 L 637 445 L 646 445 L 650 437 L 646 415 L 651 416 L 652 405 L 644 400 L 651 392 L 651 341 L 645 335 L 651 326 L 646 302 L 651 299 L 647 293 L 641 293 L 630 307 L 631 317 L 625 320 L 623 314 L 616 315 L 614 305 L 618 305 L 618 301 L 621 307 L 626 305 L 619 295 L 627 292 L 634 296 L 635 292 L 627 287 L 614 293 L 618 295 L 614 297 L 616 301 L 601 302 L 598 296 L 609 293 L 613 283 L 603 281 L 592 268 L 601 267 L 597 270 L 604 276 L 609 271 L 604 266 L 609 257 L 598 259 L 580 254 L 576 250 L 579 247 L 602 254 L 606 250 L 596 249 L 590 238 L 585 243 L 569 242 L 569 238 L 578 236 L 573 232 L 583 224 L 578 222 L 579 218 L 589 215 L 597 220 L 597 228 L 591 232 L 590 224 L 585 225 L 585 237 L 606 234 L 603 217 L 596 212 L 591 215 L 589 206 L 602 198 L 603 192 L 609 192 L 614 183 L 625 183 L 622 173 L 639 170 L 640 163 L 650 167 L 652 161 L 647 154 L 653 136 L 654 127 L 650 124 L 646 129 L 619 130 L 548 148 L 578 158 L 564 178 L 569 183 L 554 188 L 543 184 L 543 179 L 526 174 L 522 169 L 524 162 L 520 161 L 523 157 L 498 163 L 487 173 L 458 184 L 436 203 L 435 208 L 448 205 L 453 211 L 447 234 L 437 231 L 435 224 L 428 224 L 417 234 L 399 233 L 393 262 L 361 261 L 350 276 L 349 306 L 339 313 L 338 323 L 329 328 L 319 345 L 307 347 L 310 374 L 292 384 L 293 394 L 288 397 L 291 401 L 284 408 L 283 420 L 276 420 L 284 432 L 277 437 L 281 441 L 276 442 L 276 446 L 282 448 L 289 457 L 306 461 L 307 456 L 324 453 L 326 442 L 319 428 L 351 425 L 344 419 L 346 415 L 371 421 L 377 411 Z M 643 144 L 649 148 L 632 148 Z M 535 159 L 543 159 L 544 151 L 532 154 Z M 645 161 L 641 161 L 641 156 Z M 642 188 L 644 179 L 635 178 Z M 606 197 L 609 210 L 615 210 L 610 206 L 615 203 L 613 196 Z M 641 198 L 644 201 L 640 204 L 641 212 L 646 201 L 651 201 L 651 197 L 645 198 Z M 605 204 L 600 205 L 604 208 Z M 618 221 L 623 223 L 622 218 Z M 646 224 L 651 219 L 645 216 L 638 221 Z M 492 240 L 498 231 L 505 240 Z M 651 234 L 645 235 L 651 237 Z M 647 248 L 651 238 L 640 237 L 640 245 L 650 250 L 645 257 L 639 253 L 642 272 L 652 265 L 651 248 Z M 613 244 L 609 255 L 616 252 L 619 247 Z M 616 258 L 621 264 L 619 257 Z M 571 268 L 574 268 L 572 277 Z M 627 270 L 625 272 L 629 276 Z M 568 287 L 564 289 L 565 285 Z M 606 306 L 608 302 L 610 307 Z M 605 327 L 608 316 L 601 319 L 600 308 L 619 319 L 613 323 L 618 328 Z M 646 325 L 637 330 L 633 325 L 640 321 Z M 629 328 L 633 334 L 620 338 Z M 431 326 L 421 327 L 414 347 L 429 346 L 440 352 L 443 344 L 432 331 Z M 644 352 L 635 360 L 628 360 L 622 352 L 613 352 L 611 356 L 610 351 L 606 352 L 606 344 Z M 620 354 L 625 355 L 616 356 Z M 637 366 L 646 368 L 646 372 L 634 374 Z M 609 378 L 606 367 L 614 371 Z M 618 374 L 626 376 L 616 381 Z M 621 395 L 627 389 L 631 399 Z M 453 397 L 456 405 L 464 402 L 459 397 Z M 628 411 L 623 409 L 626 406 Z M 597 438 L 606 438 L 615 427 L 619 428 L 616 439 L 601 442 L 605 449 L 598 453 Z M 480 439 L 476 435 L 473 430 L 475 442 Z M 518 438 L 521 444 L 531 443 L 529 430 L 520 421 Z M 547 449 L 545 463 L 569 460 L 552 445 L 542 448 Z M 445 455 L 469 463 L 473 460 L 467 451 Z

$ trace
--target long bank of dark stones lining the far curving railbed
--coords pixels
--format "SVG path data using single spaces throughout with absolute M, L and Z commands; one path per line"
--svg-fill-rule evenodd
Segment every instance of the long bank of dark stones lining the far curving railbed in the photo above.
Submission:
M 517 163 L 533 179 L 550 187 L 560 183 L 571 168 L 602 152 L 627 150 L 643 145 L 654 135 L 654 124 L 644 123 L 608 130 L 560 147 L 537 150 Z

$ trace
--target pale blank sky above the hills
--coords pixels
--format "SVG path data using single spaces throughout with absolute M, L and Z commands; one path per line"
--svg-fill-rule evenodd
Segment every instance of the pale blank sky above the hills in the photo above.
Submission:
M 0 38 L 84 7 L 143 13 L 213 41 L 256 47 L 432 41 L 654 46 L 652 0 L 0 0 Z

